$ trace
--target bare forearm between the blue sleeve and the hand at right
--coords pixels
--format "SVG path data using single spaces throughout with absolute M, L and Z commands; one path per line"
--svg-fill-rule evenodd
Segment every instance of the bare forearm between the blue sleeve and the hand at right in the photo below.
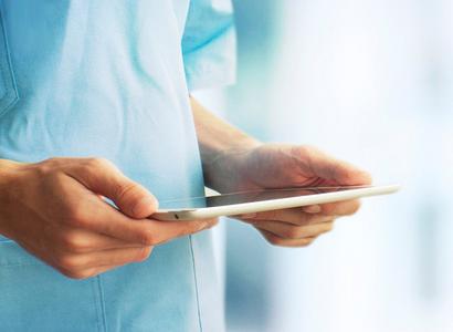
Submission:
M 218 116 L 190 97 L 200 146 L 204 181 L 208 187 L 222 190 L 222 183 L 232 176 L 235 158 L 261 143 Z M 228 158 L 222 158 L 228 154 Z M 225 160 L 229 160 L 228 163 Z

